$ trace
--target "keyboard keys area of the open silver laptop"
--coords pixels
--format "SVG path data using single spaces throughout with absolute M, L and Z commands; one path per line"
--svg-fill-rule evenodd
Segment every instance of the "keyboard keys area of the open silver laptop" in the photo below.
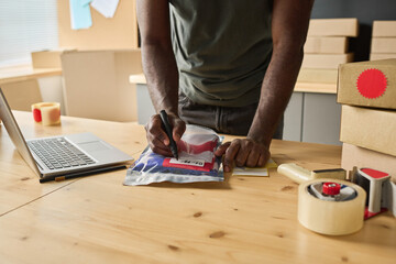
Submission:
M 63 138 L 29 141 L 29 147 L 50 169 L 94 164 L 95 161 Z

